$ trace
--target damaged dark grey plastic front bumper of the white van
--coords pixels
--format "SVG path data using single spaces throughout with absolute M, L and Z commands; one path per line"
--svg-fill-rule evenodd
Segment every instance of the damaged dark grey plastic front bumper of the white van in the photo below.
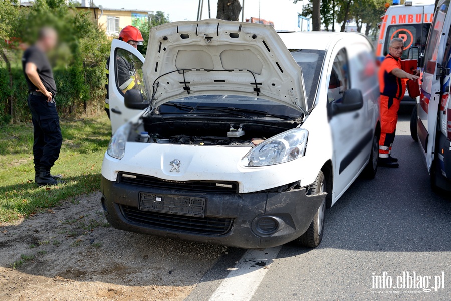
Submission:
M 119 183 L 103 176 L 101 190 L 104 214 L 114 228 L 247 249 L 279 246 L 301 236 L 327 195 L 306 195 L 305 188 L 204 193 Z M 140 210 L 142 194 L 203 199 L 204 211 L 190 216 Z

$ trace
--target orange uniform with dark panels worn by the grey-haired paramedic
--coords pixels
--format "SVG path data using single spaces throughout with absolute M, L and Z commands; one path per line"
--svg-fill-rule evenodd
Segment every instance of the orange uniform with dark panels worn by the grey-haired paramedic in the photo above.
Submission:
M 380 65 L 380 117 L 381 135 L 379 140 L 379 158 L 389 158 L 393 144 L 399 104 L 405 93 L 405 80 L 391 74 L 395 68 L 401 68 L 401 60 L 388 54 Z

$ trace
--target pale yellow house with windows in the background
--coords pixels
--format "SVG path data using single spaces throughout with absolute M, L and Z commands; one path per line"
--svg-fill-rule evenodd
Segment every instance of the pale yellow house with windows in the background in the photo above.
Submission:
M 88 11 L 100 28 L 109 36 L 117 36 L 127 25 L 139 27 L 147 21 L 149 11 L 128 9 L 107 9 L 102 7 L 76 7 L 77 10 Z

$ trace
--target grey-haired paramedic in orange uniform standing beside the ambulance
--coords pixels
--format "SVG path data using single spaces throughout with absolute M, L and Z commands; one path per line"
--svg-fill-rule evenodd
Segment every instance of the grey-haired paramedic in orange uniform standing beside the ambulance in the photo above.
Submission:
M 404 97 L 406 79 L 417 80 L 419 71 L 414 70 L 414 74 L 409 74 L 401 69 L 404 51 L 401 38 L 391 40 L 388 51 L 379 69 L 381 135 L 378 165 L 396 168 L 399 167 L 398 159 L 391 157 L 391 146 L 396 132 L 399 103 Z

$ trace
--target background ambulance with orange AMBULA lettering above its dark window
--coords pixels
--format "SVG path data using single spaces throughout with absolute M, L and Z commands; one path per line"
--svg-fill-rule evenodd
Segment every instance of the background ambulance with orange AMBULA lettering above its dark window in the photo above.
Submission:
M 393 38 L 404 40 L 405 51 L 401 59 L 406 59 L 408 49 L 412 46 L 419 47 L 419 52 L 424 53 L 427 34 L 434 16 L 434 1 L 406 0 L 403 5 L 399 0 L 393 0 L 393 5 L 381 17 L 379 41 L 376 48 L 376 56 L 382 62 L 388 54 L 388 44 Z M 413 55 L 413 54 L 412 54 Z M 418 53 L 414 54 L 415 56 Z M 417 57 L 410 57 L 417 59 Z

